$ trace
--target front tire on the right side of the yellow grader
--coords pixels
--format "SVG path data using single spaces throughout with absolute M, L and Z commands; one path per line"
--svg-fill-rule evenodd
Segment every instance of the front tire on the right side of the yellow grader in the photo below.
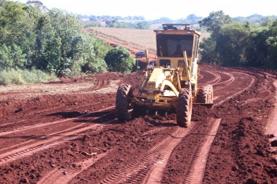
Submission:
M 193 113 L 193 95 L 189 89 L 181 89 L 177 100 L 176 118 L 180 127 L 190 125 Z

